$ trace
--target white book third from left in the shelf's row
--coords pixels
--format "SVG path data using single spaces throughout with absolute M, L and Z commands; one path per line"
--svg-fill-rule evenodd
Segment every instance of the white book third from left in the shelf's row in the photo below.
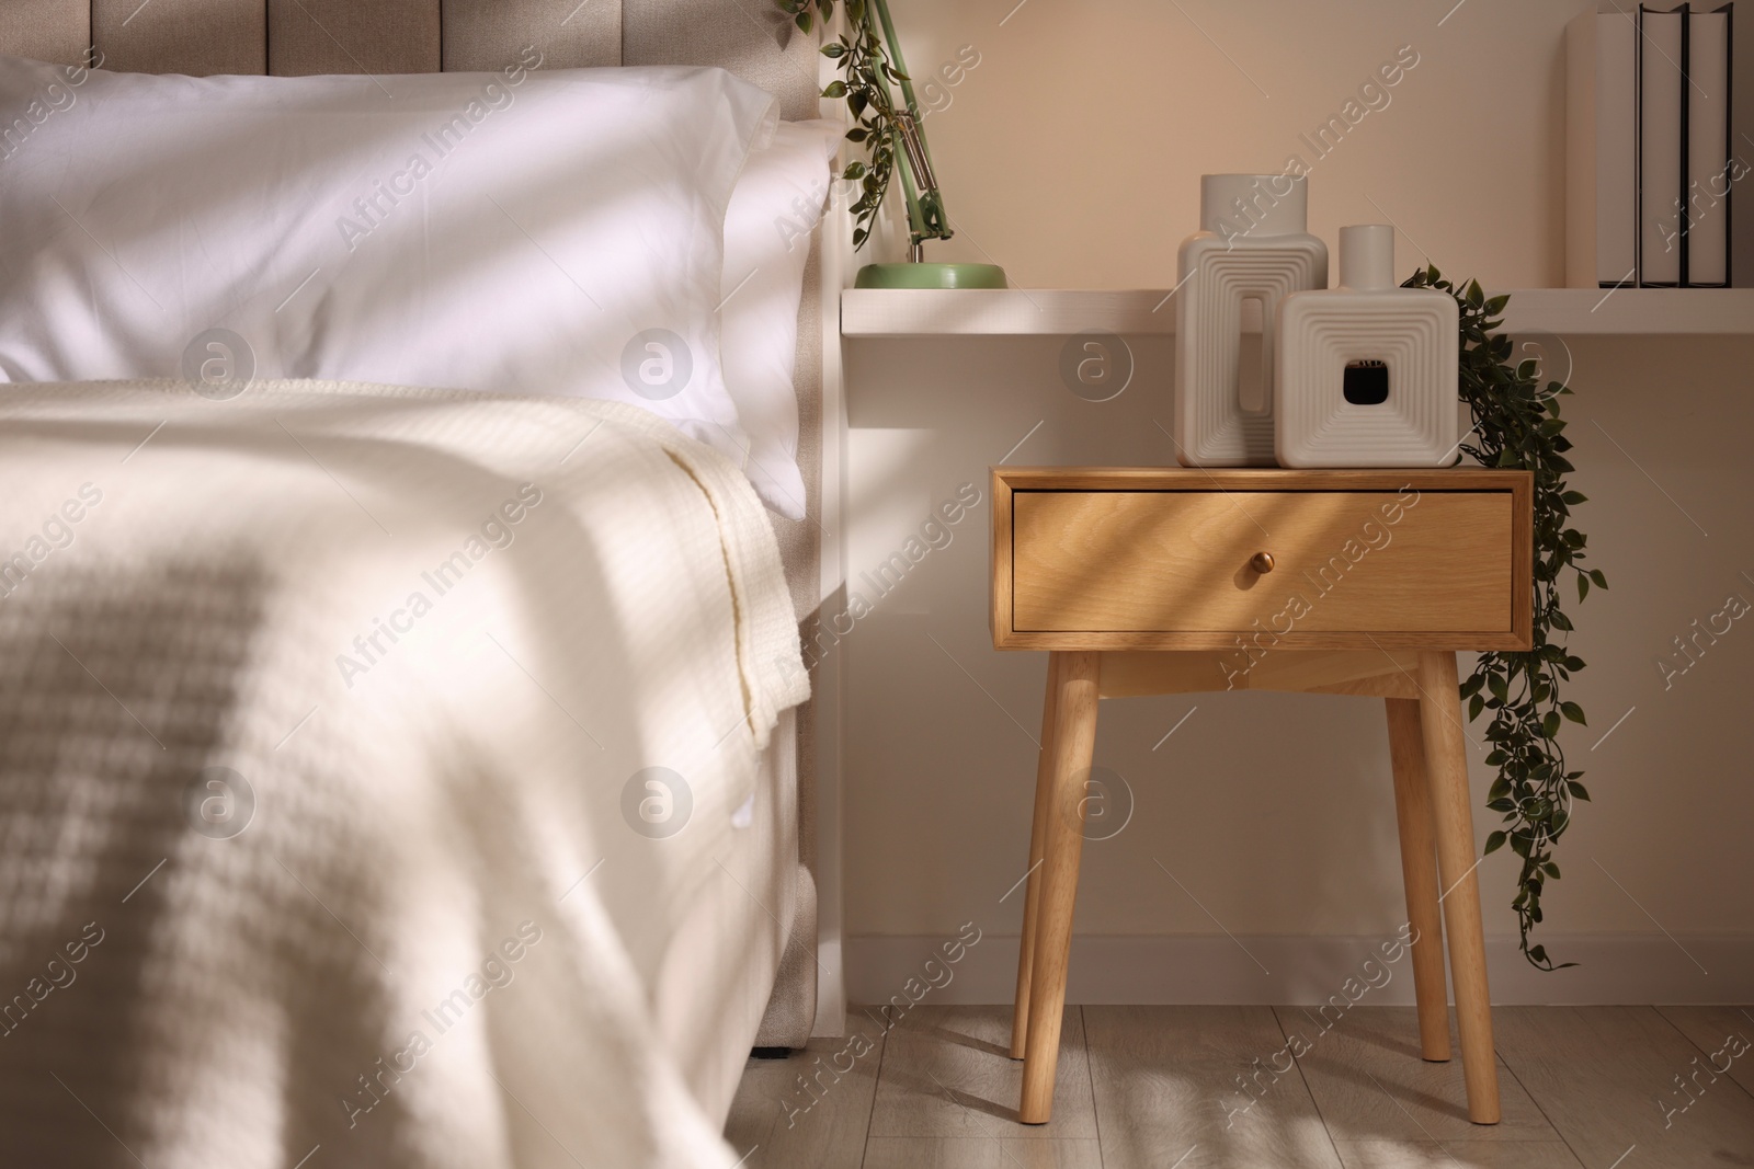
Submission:
M 1729 284 L 1729 12 L 1687 18 L 1687 284 Z

